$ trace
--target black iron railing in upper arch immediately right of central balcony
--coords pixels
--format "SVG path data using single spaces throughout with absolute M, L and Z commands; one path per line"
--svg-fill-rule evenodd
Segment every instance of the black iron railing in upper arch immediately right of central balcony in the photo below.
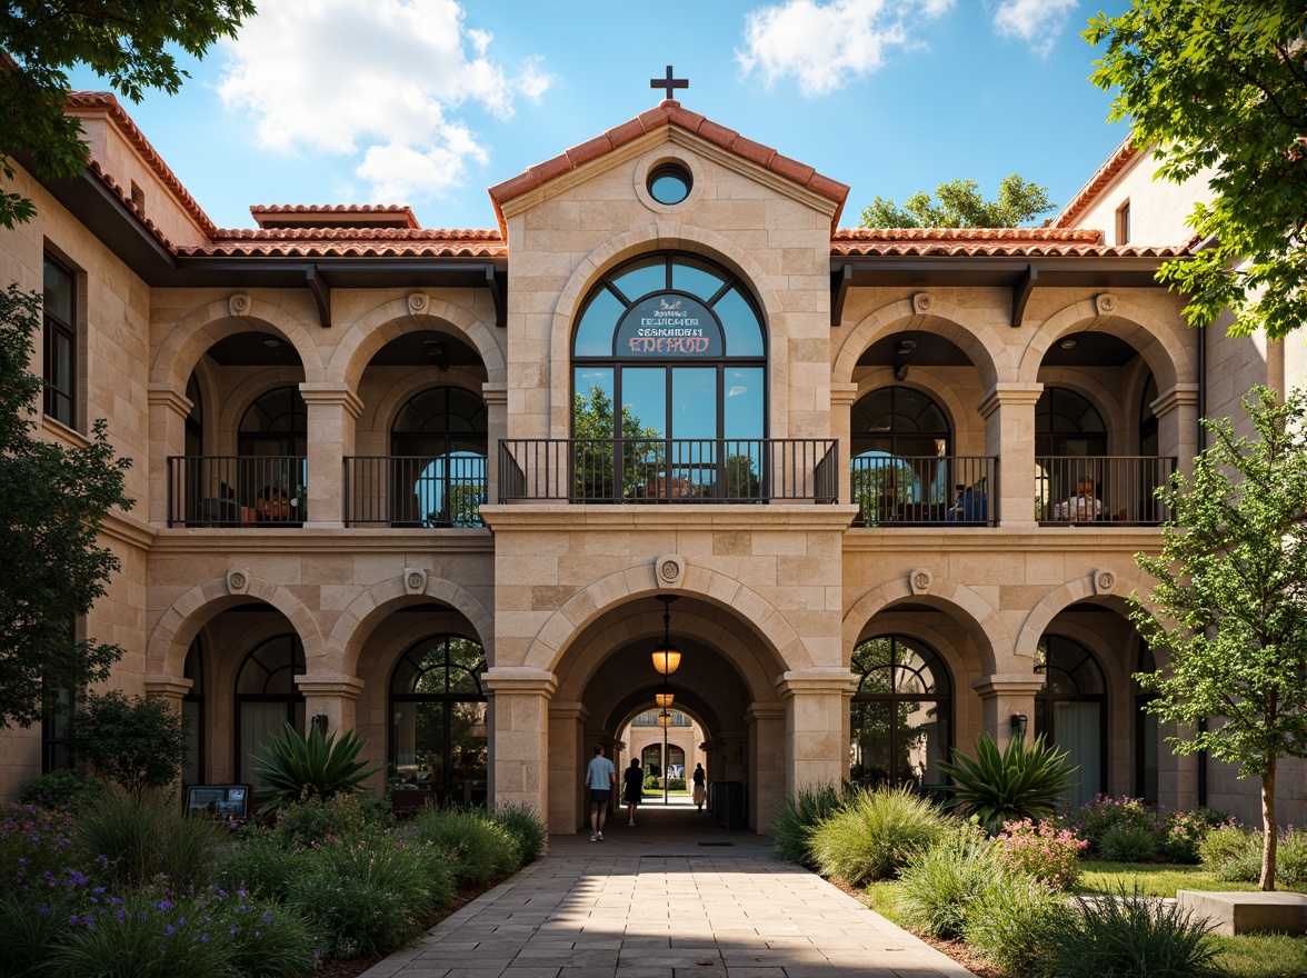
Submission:
M 984 455 L 860 455 L 850 481 L 864 527 L 992 527 L 999 459 Z

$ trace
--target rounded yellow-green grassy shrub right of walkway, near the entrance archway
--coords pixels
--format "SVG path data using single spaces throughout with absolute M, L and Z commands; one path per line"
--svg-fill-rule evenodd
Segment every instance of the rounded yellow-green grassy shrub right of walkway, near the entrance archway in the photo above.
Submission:
M 877 787 L 846 799 L 817 824 L 812 851 L 818 869 L 852 886 L 884 880 L 916 850 L 944 837 L 944 816 L 907 787 Z

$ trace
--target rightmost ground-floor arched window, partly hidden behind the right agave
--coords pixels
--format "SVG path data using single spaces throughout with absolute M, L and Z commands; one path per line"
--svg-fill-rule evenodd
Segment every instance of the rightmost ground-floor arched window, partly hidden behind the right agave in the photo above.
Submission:
M 1080 808 L 1103 790 L 1107 767 L 1107 684 L 1093 654 L 1065 635 L 1044 635 L 1035 650 L 1044 685 L 1035 694 L 1035 733 L 1078 767 L 1067 803 Z

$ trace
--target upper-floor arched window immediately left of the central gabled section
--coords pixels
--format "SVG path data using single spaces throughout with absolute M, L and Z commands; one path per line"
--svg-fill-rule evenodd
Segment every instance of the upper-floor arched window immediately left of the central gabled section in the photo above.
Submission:
M 481 526 L 486 485 L 486 405 L 463 387 L 409 399 L 391 426 L 393 523 Z

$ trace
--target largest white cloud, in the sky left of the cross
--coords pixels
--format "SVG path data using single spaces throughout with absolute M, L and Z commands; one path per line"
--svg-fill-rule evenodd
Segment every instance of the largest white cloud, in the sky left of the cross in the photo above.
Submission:
M 263 145 L 359 156 L 376 203 L 457 186 L 486 148 L 454 115 L 473 103 L 508 118 L 550 78 L 510 75 L 493 37 L 463 22 L 457 0 L 264 0 L 223 44 L 218 94 L 247 110 Z

